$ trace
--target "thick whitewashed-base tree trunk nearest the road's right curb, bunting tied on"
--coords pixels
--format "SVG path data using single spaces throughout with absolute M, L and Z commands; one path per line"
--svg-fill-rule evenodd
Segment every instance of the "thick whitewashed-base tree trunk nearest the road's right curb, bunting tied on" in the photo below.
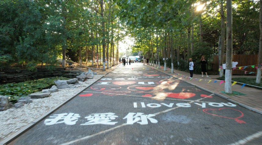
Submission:
M 226 58 L 226 73 L 225 73 L 225 92 L 232 93 L 232 2 L 227 0 L 227 58 Z

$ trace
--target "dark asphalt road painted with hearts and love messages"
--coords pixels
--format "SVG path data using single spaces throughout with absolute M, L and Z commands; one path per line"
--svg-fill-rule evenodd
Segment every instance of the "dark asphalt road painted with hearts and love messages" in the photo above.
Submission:
M 132 63 L 120 65 L 10 144 L 259 145 L 261 120 L 261 114 Z

